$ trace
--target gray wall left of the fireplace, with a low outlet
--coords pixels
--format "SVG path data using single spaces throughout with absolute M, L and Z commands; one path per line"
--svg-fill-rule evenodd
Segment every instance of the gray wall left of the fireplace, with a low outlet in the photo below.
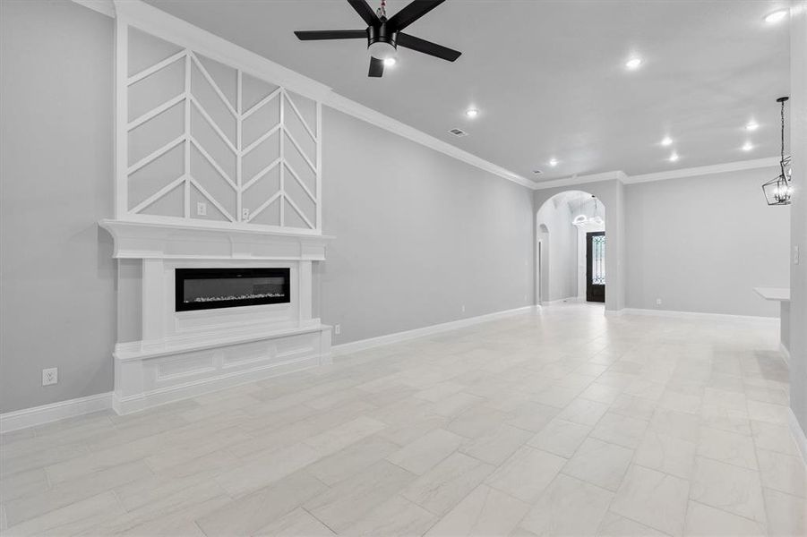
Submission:
M 0 412 L 112 388 L 113 25 L 0 2 Z M 59 383 L 41 386 L 41 370 Z

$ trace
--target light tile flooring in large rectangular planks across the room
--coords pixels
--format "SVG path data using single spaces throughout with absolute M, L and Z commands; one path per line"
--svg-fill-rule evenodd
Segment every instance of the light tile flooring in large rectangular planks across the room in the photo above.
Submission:
M 573 304 L 6 434 L 8 535 L 804 535 L 771 323 Z

